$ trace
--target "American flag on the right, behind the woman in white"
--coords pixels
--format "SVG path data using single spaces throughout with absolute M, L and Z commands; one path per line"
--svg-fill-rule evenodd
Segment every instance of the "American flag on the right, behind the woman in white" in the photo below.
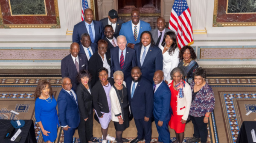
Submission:
M 172 6 L 169 29 L 175 31 L 179 48 L 194 43 L 191 14 L 186 0 L 175 0 Z

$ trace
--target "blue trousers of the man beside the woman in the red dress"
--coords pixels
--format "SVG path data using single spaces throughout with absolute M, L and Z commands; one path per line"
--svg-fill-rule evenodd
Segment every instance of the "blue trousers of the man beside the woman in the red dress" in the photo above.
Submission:
M 158 132 L 158 141 L 163 143 L 170 143 L 170 132 L 168 128 L 169 122 L 163 122 L 163 126 L 158 126 L 157 123 L 159 119 L 154 118 L 156 126 L 157 126 L 157 132 Z

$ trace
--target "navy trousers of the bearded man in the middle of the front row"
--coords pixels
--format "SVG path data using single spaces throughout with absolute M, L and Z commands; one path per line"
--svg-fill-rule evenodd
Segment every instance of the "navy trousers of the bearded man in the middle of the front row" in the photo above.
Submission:
M 145 143 L 150 143 L 151 141 L 151 118 L 149 118 L 149 121 L 145 122 L 144 118 L 142 119 L 134 119 L 135 125 L 137 128 L 137 135 L 138 139 L 145 139 Z

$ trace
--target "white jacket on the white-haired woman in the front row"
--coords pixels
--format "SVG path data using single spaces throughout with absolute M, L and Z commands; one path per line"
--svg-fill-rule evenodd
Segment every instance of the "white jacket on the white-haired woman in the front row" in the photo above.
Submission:
M 126 87 L 125 81 L 123 81 L 123 84 Z M 115 85 L 113 84 L 113 86 L 115 86 Z M 119 97 L 117 97 L 116 90 L 114 89 L 113 86 L 111 87 L 110 92 L 109 92 L 109 96 L 110 96 L 110 100 L 111 100 L 111 120 L 114 122 L 119 122 L 119 119 L 115 115 L 118 115 L 121 113 L 121 117 L 123 119 L 122 109 L 121 109 L 121 106 L 119 103 L 119 99 L 118 99 Z M 127 92 L 129 92 L 129 91 L 127 91 Z

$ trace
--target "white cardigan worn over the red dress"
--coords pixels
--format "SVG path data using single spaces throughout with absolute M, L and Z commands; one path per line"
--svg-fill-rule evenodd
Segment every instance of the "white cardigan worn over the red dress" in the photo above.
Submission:
M 172 83 L 172 79 L 168 81 L 168 86 Z M 177 115 L 183 115 L 182 119 L 187 120 L 189 116 L 189 110 L 192 100 L 192 91 L 190 85 L 185 81 L 185 87 L 183 88 L 184 97 L 179 98 L 177 95 Z M 175 111 L 172 111 L 175 112 Z

